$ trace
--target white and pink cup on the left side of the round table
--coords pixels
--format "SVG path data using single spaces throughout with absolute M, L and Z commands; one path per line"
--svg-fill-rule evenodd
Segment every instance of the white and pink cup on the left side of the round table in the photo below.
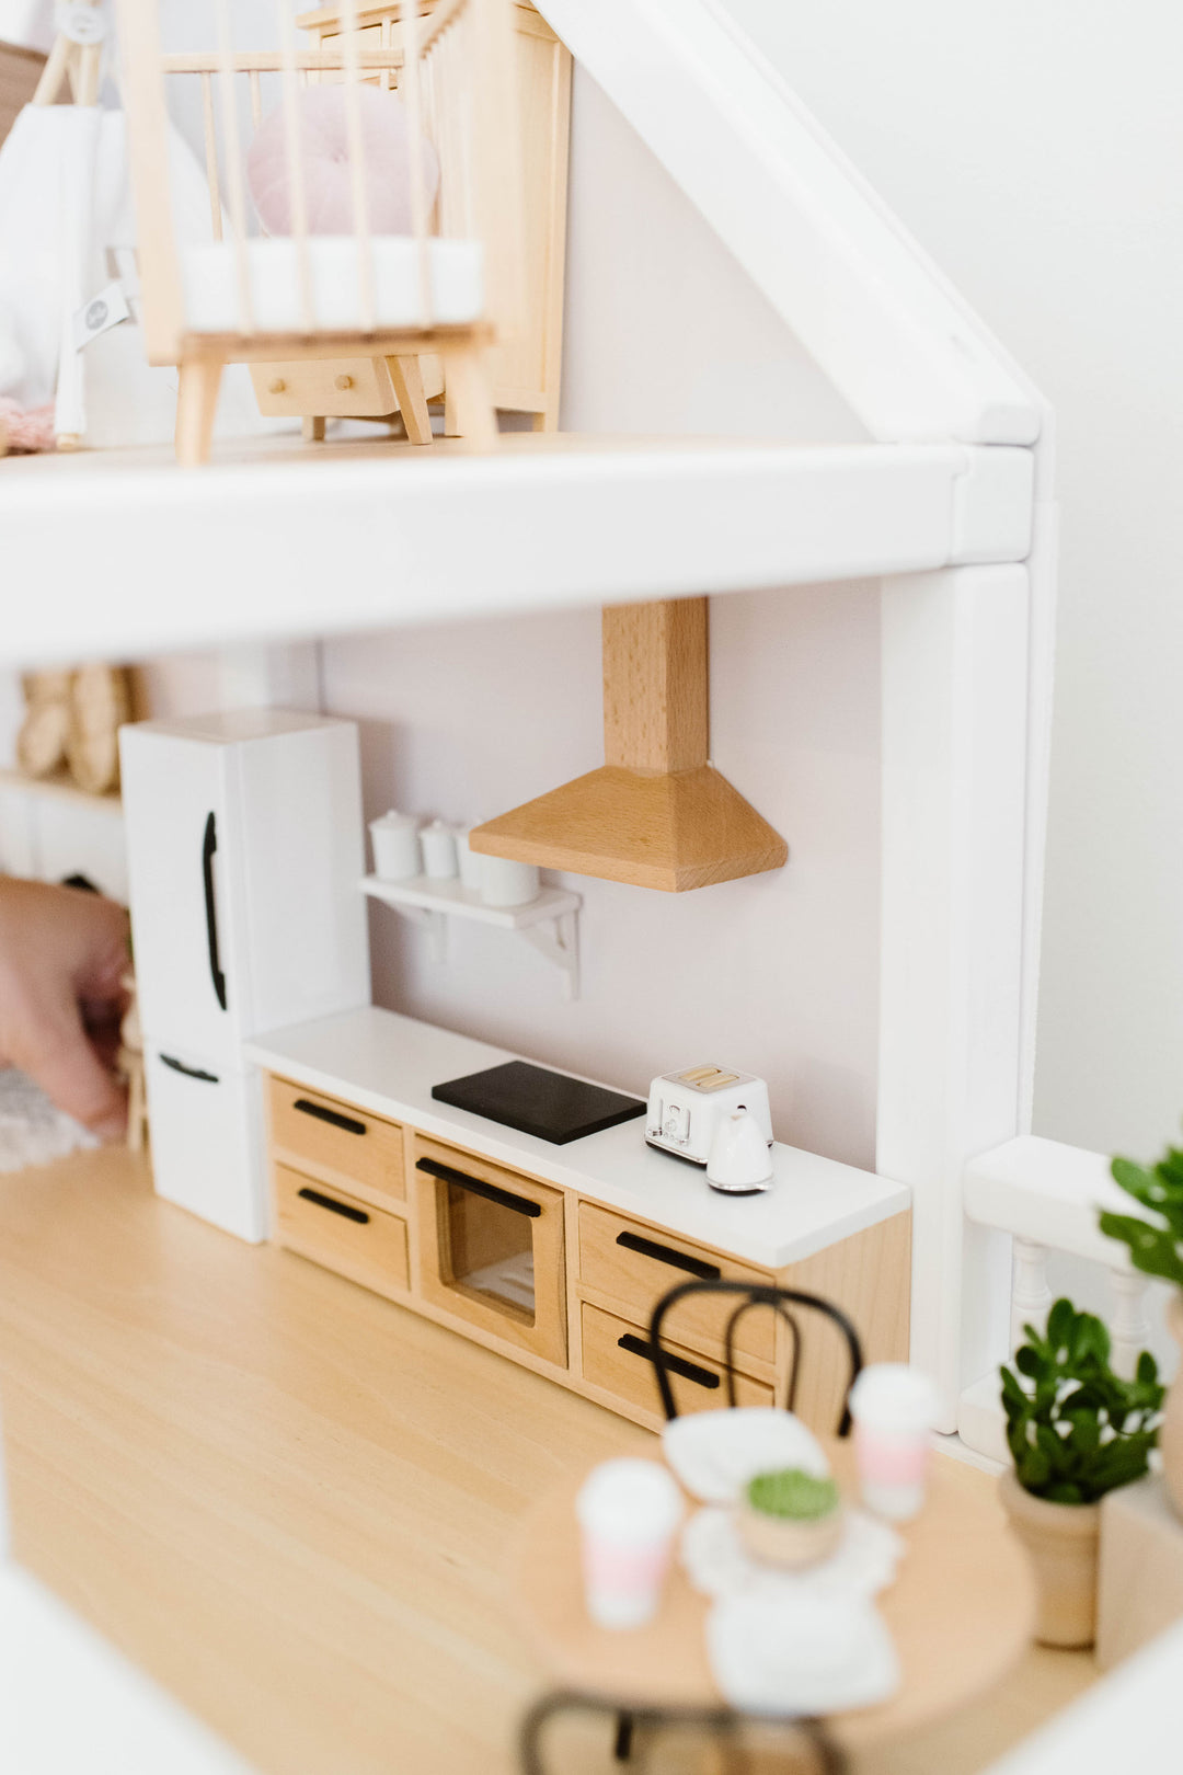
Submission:
M 658 1461 L 601 1461 L 575 1500 L 587 1613 L 599 1628 L 653 1621 L 669 1569 L 681 1491 Z

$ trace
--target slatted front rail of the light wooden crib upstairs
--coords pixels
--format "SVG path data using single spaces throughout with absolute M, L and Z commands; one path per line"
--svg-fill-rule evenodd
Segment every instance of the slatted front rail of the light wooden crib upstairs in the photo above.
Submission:
M 376 332 L 371 193 L 365 165 L 364 85 L 397 89 L 408 121 L 408 236 L 424 247 L 433 236 L 475 240 L 482 247 L 484 316 L 493 332 L 511 330 L 521 307 L 521 167 L 516 128 L 513 0 L 394 0 L 381 27 L 367 23 L 362 0 L 341 0 L 341 28 L 319 48 L 303 46 L 300 0 L 273 0 L 273 43 L 257 34 L 239 41 L 243 21 L 234 0 L 213 0 L 211 44 L 167 53 L 161 0 L 117 0 L 121 82 L 128 114 L 131 183 L 137 204 L 140 286 L 149 357 L 176 362 L 186 332 L 184 279 L 179 263 L 176 178 L 170 133 L 188 115 L 204 147 L 209 241 L 227 240 L 236 259 L 236 332 L 266 334 L 252 302 L 254 266 L 247 250 L 259 233 L 247 154 L 264 112 L 282 114 L 282 151 L 289 190 L 286 234 L 293 240 L 300 332 L 335 330 L 317 318 L 307 243 L 307 169 L 298 115 L 310 83 L 341 83 L 351 178 L 349 236 L 358 252 L 358 334 Z M 236 34 L 238 32 L 238 34 Z M 323 34 L 325 36 L 325 34 Z M 307 39 L 305 39 L 307 44 Z M 365 99 L 369 103 L 369 99 Z M 426 149 L 422 144 L 429 144 Z M 438 162 L 438 197 L 424 154 Z M 188 229 L 188 218 L 186 218 Z M 184 245 L 192 243 L 188 233 Z M 433 277 L 420 254 L 420 330 L 436 325 Z

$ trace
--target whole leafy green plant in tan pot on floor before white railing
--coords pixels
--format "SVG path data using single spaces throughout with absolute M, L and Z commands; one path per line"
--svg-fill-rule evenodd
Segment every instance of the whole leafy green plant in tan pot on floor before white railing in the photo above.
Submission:
M 1002 1475 L 1002 1502 L 1036 1567 L 1036 1638 L 1091 1645 L 1100 1498 L 1146 1473 L 1163 1388 L 1149 1351 L 1132 1381 L 1116 1376 L 1109 1331 L 1071 1301 L 1055 1303 L 1045 1335 L 1034 1326 L 1023 1331 L 1018 1374 L 1002 1369 L 1015 1461 L 1015 1471 Z

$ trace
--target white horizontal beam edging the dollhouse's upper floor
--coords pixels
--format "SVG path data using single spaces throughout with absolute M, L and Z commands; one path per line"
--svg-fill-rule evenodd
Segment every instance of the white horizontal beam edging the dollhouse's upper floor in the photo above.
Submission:
M 505 433 L 0 462 L 0 664 L 910 573 L 1029 547 L 1030 451 Z

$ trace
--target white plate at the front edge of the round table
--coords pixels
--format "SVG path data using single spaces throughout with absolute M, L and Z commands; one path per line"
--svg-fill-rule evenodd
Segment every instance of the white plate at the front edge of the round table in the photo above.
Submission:
M 899 1688 L 896 1647 L 866 1598 L 727 1596 L 706 1619 L 706 1651 L 741 1713 L 844 1713 Z

